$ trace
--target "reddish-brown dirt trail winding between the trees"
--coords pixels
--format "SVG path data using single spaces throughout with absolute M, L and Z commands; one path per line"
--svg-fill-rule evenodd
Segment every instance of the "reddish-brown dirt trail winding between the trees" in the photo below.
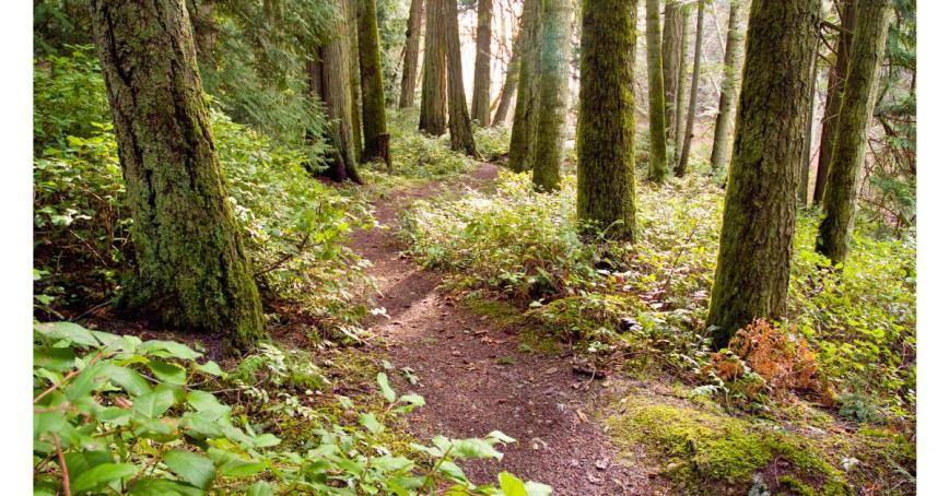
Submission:
M 370 331 L 382 339 L 396 368 L 411 367 L 418 376 L 411 386 L 391 373 L 397 389 L 425 397 L 410 428 L 425 440 L 437 434 L 481 437 L 494 429 L 516 438 L 502 449 L 501 461 L 462 463 L 476 483 L 491 482 L 506 470 L 549 484 L 560 495 L 649 494 L 644 470 L 622 464 L 594 421 L 590 391 L 597 388 L 589 387 L 589 377 L 575 375 L 570 358 L 560 354 L 518 352 L 513 330 L 456 304 L 438 291 L 440 274 L 400 257 L 396 232 L 401 209 L 444 188 L 490 188 L 496 175 L 496 166 L 482 164 L 459 184 L 433 181 L 399 191 L 375 205 L 379 224 L 388 228 L 353 236 L 351 247 L 373 263 L 377 306 L 388 312 L 388 318 L 373 318 Z

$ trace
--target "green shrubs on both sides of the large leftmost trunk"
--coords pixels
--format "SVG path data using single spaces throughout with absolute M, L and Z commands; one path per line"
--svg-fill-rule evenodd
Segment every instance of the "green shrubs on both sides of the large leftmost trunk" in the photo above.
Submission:
M 34 249 L 36 267 L 49 276 L 35 290 L 55 298 L 57 311 L 74 311 L 114 296 L 131 270 L 131 216 L 112 127 L 98 123 L 110 121 L 107 107 L 73 102 L 105 94 L 98 67 L 84 50 L 56 60 L 60 70 L 37 68 L 45 75 L 36 86 L 36 129 L 49 146 L 34 157 Z M 87 87 L 57 93 L 77 81 Z M 66 103 L 57 103 L 62 98 Z M 47 123 L 59 116 L 58 108 L 69 114 Z M 298 149 L 279 145 L 213 109 L 211 120 L 265 296 L 352 323 L 361 314 L 352 292 L 365 283 L 365 262 L 343 243 L 354 226 L 371 225 L 367 208 L 315 181 Z

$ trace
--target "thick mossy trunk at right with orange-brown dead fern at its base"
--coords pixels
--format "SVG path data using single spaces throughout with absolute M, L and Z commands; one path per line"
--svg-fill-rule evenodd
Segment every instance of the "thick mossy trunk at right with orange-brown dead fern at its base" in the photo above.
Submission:
M 820 0 L 751 4 L 735 156 L 707 320 L 718 347 L 753 319 L 781 319 L 787 309 L 820 8 Z

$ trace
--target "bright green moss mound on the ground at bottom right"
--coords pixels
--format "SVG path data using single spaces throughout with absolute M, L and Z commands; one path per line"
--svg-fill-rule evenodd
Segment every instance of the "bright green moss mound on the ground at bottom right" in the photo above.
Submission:
M 750 486 L 755 472 L 775 463 L 769 471 L 783 471 L 780 475 L 793 476 L 802 487 L 848 494 L 841 472 L 804 437 L 692 406 L 648 404 L 646 398 L 634 397 L 626 404 L 632 406 L 607 421 L 617 442 L 644 446 L 684 493 Z

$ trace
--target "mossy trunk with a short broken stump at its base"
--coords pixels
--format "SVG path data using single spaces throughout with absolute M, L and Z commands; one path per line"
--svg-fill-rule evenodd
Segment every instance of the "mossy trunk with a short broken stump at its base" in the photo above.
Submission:
M 379 29 L 376 0 L 360 0 L 359 48 L 363 108 L 362 161 L 382 158 L 386 143 L 386 91 L 383 87 L 383 63 L 379 54 Z

